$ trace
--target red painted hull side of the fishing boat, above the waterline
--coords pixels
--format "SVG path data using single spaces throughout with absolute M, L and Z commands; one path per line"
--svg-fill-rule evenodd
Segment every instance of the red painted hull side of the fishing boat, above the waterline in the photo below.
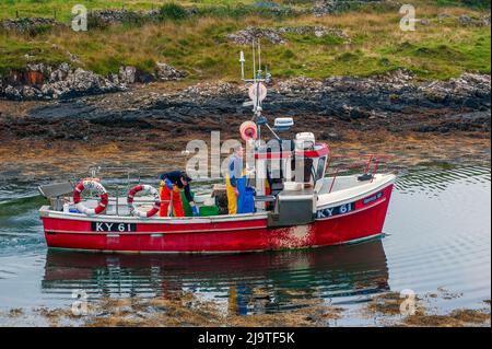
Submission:
M 327 246 L 378 235 L 391 196 L 393 185 L 380 190 L 380 197 L 354 210 L 313 224 L 291 228 L 267 228 L 266 218 L 204 223 L 137 221 L 136 232 L 94 232 L 89 220 L 43 217 L 49 247 L 147 253 L 221 253 Z

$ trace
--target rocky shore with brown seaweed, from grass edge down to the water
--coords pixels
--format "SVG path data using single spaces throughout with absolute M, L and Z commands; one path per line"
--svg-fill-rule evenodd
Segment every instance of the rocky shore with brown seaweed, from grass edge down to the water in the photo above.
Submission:
M 276 81 L 265 114 L 292 116 L 336 154 L 393 153 L 395 166 L 490 162 L 490 75 L 420 82 L 405 71 L 375 78 Z M 183 166 L 192 139 L 238 138 L 250 107 L 226 82 L 140 85 L 56 102 L 0 103 L 1 177 L 49 179 L 90 164 Z M 288 136 L 288 135 L 285 135 Z M 291 135 L 292 136 L 292 135 Z M 15 154 L 15 155 L 13 155 Z

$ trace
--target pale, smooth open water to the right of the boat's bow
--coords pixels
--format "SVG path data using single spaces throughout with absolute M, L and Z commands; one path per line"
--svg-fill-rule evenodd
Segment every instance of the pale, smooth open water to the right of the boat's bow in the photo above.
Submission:
M 396 188 L 385 224 L 391 288 L 462 293 L 442 306 L 490 299 L 490 168 L 410 173 Z

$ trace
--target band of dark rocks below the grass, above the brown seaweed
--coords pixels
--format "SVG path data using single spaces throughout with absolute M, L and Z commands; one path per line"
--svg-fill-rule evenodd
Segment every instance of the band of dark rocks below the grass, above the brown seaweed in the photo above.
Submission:
M 77 72 L 77 71 L 75 71 Z M 265 102 L 268 116 L 293 116 L 300 128 L 390 132 L 490 132 L 490 75 L 466 73 L 447 81 L 420 82 L 407 71 L 373 78 L 336 77 L 276 81 Z M 108 85 L 112 89 L 112 85 Z M 161 135 L 227 130 L 250 116 L 242 85 L 207 82 L 168 91 L 163 84 L 119 93 L 35 103 L 22 118 L 0 116 L 8 138 L 96 140 L 134 133 Z M 1 112 L 1 110 L 0 110 Z

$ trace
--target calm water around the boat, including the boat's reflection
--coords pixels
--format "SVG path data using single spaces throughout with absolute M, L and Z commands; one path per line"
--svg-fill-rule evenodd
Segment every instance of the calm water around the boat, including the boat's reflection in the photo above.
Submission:
M 189 290 L 239 314 L 285 312 L 317 298 L 349 310 L 341 325 L 371 322 L 358 310 L 388 290 L 444 292 L 433 303 L 438 312 L 482 307 L 491 294 L 490 195 L 488 167 L 413 171 L 397 182 L 382 240 L 248 255 L 130 256 L 48 251 L 37 216 L 45 201 L 35 186 L 0 183 L 0 312 L 68 306 L 74 290 L 91 299 Z

